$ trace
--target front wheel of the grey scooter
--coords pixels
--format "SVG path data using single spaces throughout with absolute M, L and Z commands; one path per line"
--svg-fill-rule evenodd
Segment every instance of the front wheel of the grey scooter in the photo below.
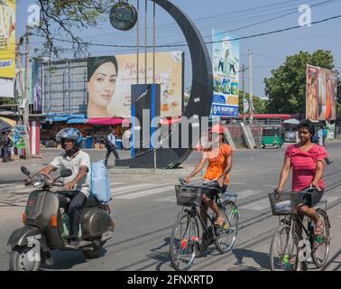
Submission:
M 40 252 L 32 252 L 32 247 L 15 246 L 10 255 L 11 271 L 38 271 L 41 266 Z

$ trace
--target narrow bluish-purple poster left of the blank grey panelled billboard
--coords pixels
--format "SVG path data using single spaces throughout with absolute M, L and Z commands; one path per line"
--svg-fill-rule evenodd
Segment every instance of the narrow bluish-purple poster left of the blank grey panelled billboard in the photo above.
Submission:
M 42 66 L 40 60 L 35 60 L 32 65 L 32 103 L 35 112 L 42 109 Z

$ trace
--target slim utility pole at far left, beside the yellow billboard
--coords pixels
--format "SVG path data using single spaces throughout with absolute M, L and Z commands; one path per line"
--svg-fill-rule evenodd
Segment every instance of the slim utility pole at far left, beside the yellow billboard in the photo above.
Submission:
M 30 144 L 30 119 L 29 119 L 29 95 L 30 95 L 30 27 L 26 26 L 26 49 L 25 49 L 25 93 L 23 96 L 23 126 L 25 126 L 25 156 L 26 159 L 31 159 L 31 144 Z

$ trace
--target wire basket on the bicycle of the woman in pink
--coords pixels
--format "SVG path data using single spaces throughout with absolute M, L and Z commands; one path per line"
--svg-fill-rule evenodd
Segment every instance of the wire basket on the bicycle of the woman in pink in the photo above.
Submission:
M 272 215 L 295 215 L 297 206 L 300 204 L 300 194 L 297 192 L 269 193 L 269 200 L 272 206 Z

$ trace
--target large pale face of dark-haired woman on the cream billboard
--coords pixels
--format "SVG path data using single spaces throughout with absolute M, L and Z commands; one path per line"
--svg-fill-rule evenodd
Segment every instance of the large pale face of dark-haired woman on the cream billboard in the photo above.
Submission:
M 102 64 L 88 81 L 89 100 L 100 107 L 107 107 L 114 96 L 117 71 L 112 62 Z

